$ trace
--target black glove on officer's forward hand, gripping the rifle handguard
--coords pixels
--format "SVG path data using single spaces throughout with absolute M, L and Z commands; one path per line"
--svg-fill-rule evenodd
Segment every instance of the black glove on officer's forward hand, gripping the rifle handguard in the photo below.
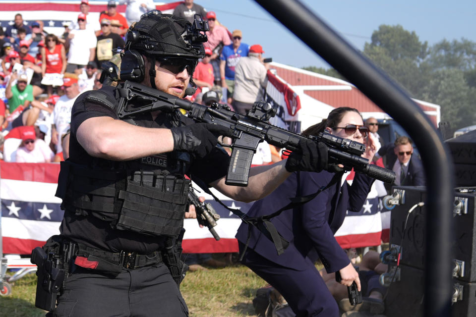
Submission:
M 291 153 L 286 162 L 288 172 L 320 172 L 327 169 L 327 146 L 324 143 L 306 139 L 299 142 L 299 147 L 300 150 Z

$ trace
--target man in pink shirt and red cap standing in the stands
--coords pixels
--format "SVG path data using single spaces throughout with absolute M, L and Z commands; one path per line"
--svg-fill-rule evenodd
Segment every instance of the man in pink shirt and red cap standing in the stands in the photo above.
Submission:
M 206 32 L 208 41 L 203 43 L 203 46 L 211 49 L 213 52 L 210 58 L 210 63 L 213 66 L 215 83 L 220 85 L 220 54 L 222 53 L 222 48 L 232 44 L 232 41 L 230 40 L 227 29 L 218 25 L 216 19 L 217 15 L 215 12 L 207 12 L 208 27 L 210 28 L 210 31 Z

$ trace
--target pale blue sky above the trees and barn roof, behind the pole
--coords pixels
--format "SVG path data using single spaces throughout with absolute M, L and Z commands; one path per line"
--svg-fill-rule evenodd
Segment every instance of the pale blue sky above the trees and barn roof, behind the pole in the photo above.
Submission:
M 476 42 L 476 0 L 303 0 L 358 50 L 379 25 L 400 24 L 430 45 L 443 39 Z M 240 29 L 243 43 L 261 44 L 266 57 L 296 66 L 329 65 L 268 12 L 251 0 L 195 0 L 230 31 Z

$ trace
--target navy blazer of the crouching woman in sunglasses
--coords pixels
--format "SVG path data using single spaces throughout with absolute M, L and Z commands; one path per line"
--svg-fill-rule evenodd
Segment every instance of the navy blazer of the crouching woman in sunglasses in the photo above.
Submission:
M 273 193 L 255 202 L 247 214 L 254 217 L 277 211 L 286 206 L 290 198 L 309 195 L 326 186 L 333 175 L 327 171 L 293 173 Z M 345 267 L 350 261 L 334 233 L 342 225 L 347 210 L 360 211 L 373 181 L 356 173 L 352 186 L 347 182 L 341 186 L 338 182 L 310 202 L 274 217 L 271 222 L 290 242 L 282 255 L 278 256 L 273 242 L 255 227 L 251 228 L 248 247 L 269 261 L 297 270 L 313 265 L 309 256 L 314 251 L 328 272 Z M 248 226 L 242 223 L 236 235 L 238 241 L 246 243 L 247 232 Z

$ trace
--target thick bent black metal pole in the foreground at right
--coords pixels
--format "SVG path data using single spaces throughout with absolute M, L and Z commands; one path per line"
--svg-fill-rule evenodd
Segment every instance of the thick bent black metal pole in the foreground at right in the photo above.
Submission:
M 403 90 L 298 0 L 256 2 L 390 114 L 415 141 L 427 183 L 424 314 L 450 316 L 453 166 L 435 127 Z

